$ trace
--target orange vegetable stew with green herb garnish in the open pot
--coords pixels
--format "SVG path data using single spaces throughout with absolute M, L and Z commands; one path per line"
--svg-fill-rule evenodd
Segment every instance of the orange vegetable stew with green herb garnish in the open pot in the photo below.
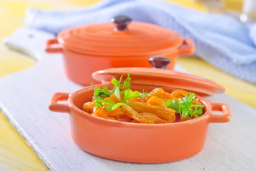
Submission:
M 105 119 L 129 123 L 174 123 L 203 114 L 204 106 L 195 93 L 177 89 L 171 94 L 163 88 L 147 92 L 132 91 L 131 77 L 122 83 L 111 79 L 113 88 L 94 87 L 93 100 L 84 103 L 83 111 Z

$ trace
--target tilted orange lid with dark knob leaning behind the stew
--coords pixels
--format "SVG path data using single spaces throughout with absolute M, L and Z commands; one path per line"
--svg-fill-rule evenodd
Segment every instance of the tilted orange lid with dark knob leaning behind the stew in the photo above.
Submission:
M 166 70 L 170 60 L 162 57 L 149 59 L 153 68 L 109 68 L 96 71 L 92 74 L 93 79 L 102 83 L 111 83 L 115 77 L 117 80 L 123 74 L 123 80 L 130 73 L 131 84 L 157 85 L 159 87 L 172 87 L 195 92 L 199 96 L 209 96 L 223 93 L 225 88 L 210 80 L 197 77 L 191 74 L 181 73 L 173 70 Z

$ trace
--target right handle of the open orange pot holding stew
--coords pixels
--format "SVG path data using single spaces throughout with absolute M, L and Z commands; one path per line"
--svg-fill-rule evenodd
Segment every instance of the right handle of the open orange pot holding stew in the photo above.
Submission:
M 230 107 L 226 103 L 211 103 L 212 111 L 222 111 L 223 114 L 210 114 L 209 123 L 227 123 L 231 119 Z

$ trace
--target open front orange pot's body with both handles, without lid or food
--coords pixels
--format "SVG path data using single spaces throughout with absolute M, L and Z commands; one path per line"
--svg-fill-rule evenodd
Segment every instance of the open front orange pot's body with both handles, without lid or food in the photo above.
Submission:
M 131 89 L 142 91 L 157 87 L 134 84 Z M 169 92 L 173 90 L 166 88 Z M 92 100 L 92 94 L 92 86 L 72 94 L 55 93 L 49 103 L 49 109 L 70 114 L 72 138 L 81 149 L 112 160 L 159 163 L 186 159 L 204 147 L 209 123 L 226 123 L 231 119 L 227 104 L 209 103 L 197 97 L 205 106 L 205 110 L 201 117 L 193 120 L 165 124 L 107 120 L 81 110 L 84 103 Z M 60 104 L 59 100 L 67 100 L 67 104 Z M 213 115 L 212 111 L 222 111 L 223 114 Z

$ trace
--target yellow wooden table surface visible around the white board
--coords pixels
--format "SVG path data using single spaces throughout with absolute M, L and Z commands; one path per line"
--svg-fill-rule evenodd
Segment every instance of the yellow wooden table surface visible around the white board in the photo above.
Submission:
M 23 26 L 25 10 L 27 7 L 42 9 L 68 9 L 72 7 L 86 6 L 98 0 L 0 0 L 0 39 L 7 37 L 12 32 Z M 206 10 L 194 0 L 170 0 L 190 8 Z M 236 2 L 241 0 L 235 0 Z M 228 3 L 225 3 L 228 5 Z M 241 102 L 256 108 L 256 86 L 236 79 L 218 69 L 209 66 L 200 59 L 180 57 L 177 63 L 186 68 L 192 74 L 215 81 L 226 88 L 227 94 Z M 191 65 L 193 63 L 193 65 Z M 0 43 L 0 77 L 29 68 L 35 62 L 27 57 L 6 49 Z M 204 72 L 201 72 L 204 71 Z M 0 113 L 0 171 L 8 168 L 12 171 L 46 171 L 42 162 L 20 137 L 17 131 L 9 124 L 3 114 Z

